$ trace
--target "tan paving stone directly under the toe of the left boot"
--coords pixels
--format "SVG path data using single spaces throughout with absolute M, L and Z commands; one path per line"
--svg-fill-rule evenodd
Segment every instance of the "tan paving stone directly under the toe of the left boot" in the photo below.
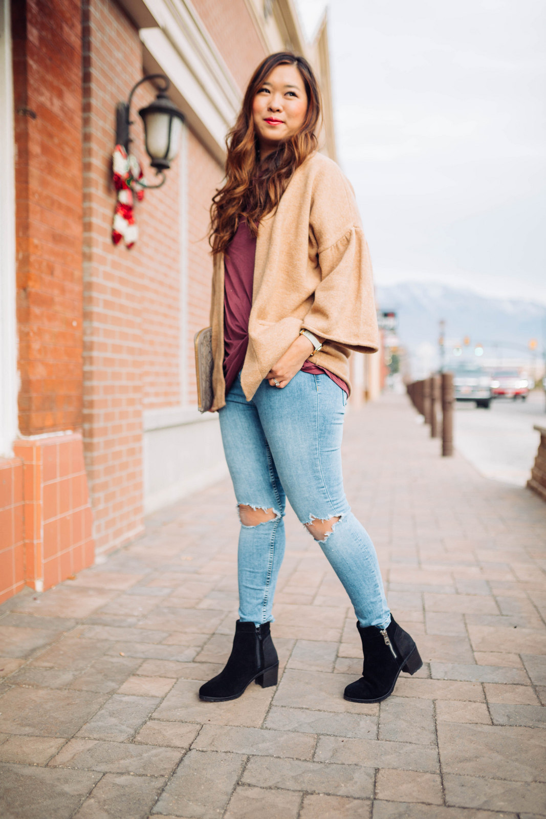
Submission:
M 167 722 L 212 722 L 214 725 L 237 725 L 259 728 L 264 722 L 275 688 L 250 683 L 238 699 L 225 703 L 205 703 L 199 699 L 201 681 L 178 680 L 154 713 L 155 719 Z

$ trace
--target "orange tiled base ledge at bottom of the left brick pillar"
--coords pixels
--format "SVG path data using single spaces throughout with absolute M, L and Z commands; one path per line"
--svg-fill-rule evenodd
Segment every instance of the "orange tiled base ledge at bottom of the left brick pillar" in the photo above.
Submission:
M 21 438 L 0 461 L 0 602 L 56 586 L 95 559 L 79 432 Z

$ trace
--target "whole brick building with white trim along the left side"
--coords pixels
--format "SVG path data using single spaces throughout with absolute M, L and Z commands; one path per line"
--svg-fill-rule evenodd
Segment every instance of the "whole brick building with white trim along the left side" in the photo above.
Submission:
M 335 156 L 327 23 L 292 0 L 0 0 L 0 602 L 43 590 L 142 531 L 147 512 L 220 477 L 196 411 L 208 324 L 210 197 L 224 137 L 269 52 L 309 57 Z M 116 103 L 152 73 L 183 111 L 165 186 L 111 241 Z M 153 179 L 133 99 L 132 150 Z

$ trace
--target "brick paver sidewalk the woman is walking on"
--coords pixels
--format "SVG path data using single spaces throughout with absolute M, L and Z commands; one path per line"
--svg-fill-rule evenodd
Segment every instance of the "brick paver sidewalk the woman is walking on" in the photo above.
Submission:
M 2 819 L 546 816 L 546 504 L 440 458 L 405 397 L 353 412 L 347 493 L 425 666 L 347 703 L 354 614 L 293 514 L 278 687 L 201 703 L 237 617 L 228 482 L 0 607 Z

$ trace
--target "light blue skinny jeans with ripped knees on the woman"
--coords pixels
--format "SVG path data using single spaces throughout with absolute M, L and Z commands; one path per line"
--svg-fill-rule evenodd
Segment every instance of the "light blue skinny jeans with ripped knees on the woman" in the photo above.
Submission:
M 242 621 L 258 626 L 273 620 L 288 497 L 301 523 L 340 516 L 318 545 L 345 586 L 360 625 L 386 628 L 390 623 L 376 551 L 343 490 L 340 448 L 346 397 L 327 375 L 300 371 L 282 389 L 264 380 L 247 401 L 239 373 L 219 410 L 237 505 L 275 513 L 275 518 L 256 526 L 241 524 Z

